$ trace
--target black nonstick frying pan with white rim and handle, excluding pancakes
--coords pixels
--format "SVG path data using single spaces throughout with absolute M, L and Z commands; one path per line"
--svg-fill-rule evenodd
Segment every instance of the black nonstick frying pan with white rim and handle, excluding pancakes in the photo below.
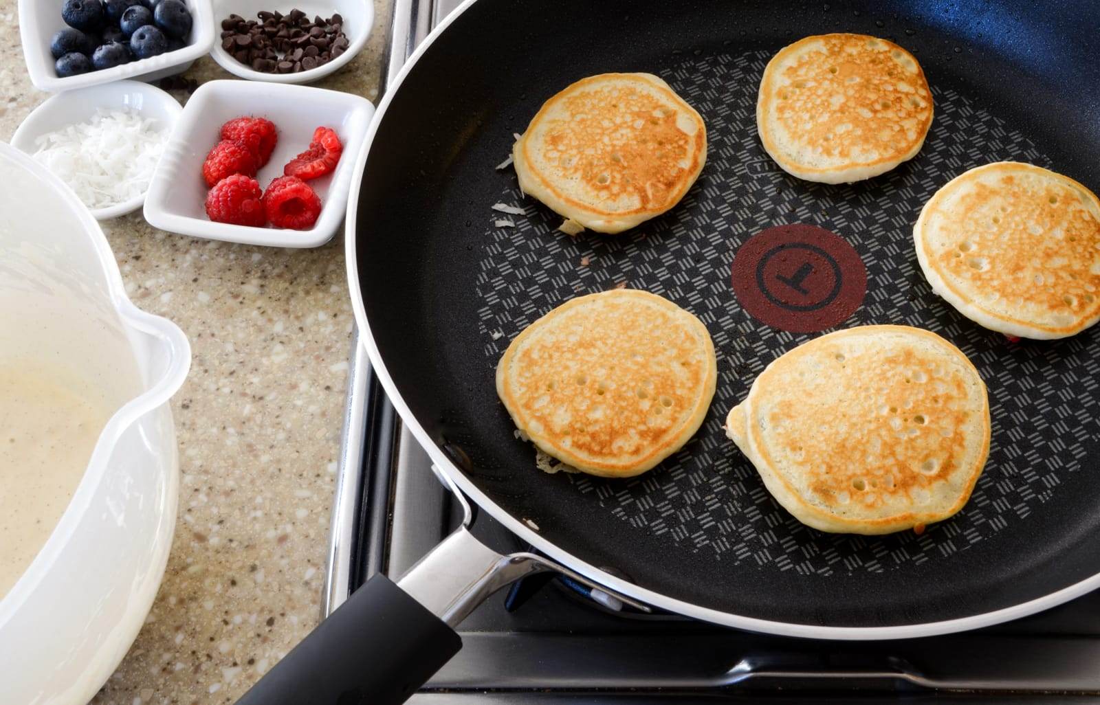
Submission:
M 1097 329 L 1008 341 L 934 296 L 912 246 L 926 199 L 980 164 L 1031 162 L 1100 187 L 1097 26 L 1089 2 L 463 4 L 380 106 L 350 200 L 349 277 L 375 373 L 437 472 L 549 558 L 501 557 L 459 529 L 399 586 L 367 582 L 241 702 L 398 702 L 459 648 L 451 627 L 480 598 L 535 570 L 698 619 L 824 639 L 970 629 L 1100 585 Z M 800 181 L 760 146 L 759 78 L 780 47 L 842 31 L 913 52 L 935 118 L 920 154 L 886 175 Z M 707 123 L 707 164 L 664 216 L 570 238 L 495 167 L 546 98 L 605 71 L 668 80 Z M 516 227 L 496 227 L 501 202 L 524 209 L 509 217 Z M 989 462 L 964 510 L 923 535 L 809 529 L 725 439 L 724 415 L 756 375 L 813 337 L 761 323 L 730 283 L 743 243 L 792 223 L 838 234 L 866 265 L 862 305 L 840 327 L 936 331 L 987 382 Z M 624 283 L 707 326 L 719 366 L 711 412 L 640 477 L 538 472 L 497 400 L 496 362 L 552 307 Z

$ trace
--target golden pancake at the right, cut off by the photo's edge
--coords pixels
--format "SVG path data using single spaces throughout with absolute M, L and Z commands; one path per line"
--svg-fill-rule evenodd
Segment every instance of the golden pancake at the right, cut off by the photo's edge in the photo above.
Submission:
M 1052 339 L 1100 320 L 1100 200 L 1019 162 L 952 179 L 913 229 L 932 289 L 980 326 Z

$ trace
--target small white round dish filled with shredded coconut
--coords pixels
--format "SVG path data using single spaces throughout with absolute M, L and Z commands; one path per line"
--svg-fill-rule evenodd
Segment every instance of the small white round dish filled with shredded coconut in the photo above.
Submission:
M 155 86 L 116 81 L 57 93 L 11 145 L 61 177 L 98 220 L 138 210 L 183 108 Z

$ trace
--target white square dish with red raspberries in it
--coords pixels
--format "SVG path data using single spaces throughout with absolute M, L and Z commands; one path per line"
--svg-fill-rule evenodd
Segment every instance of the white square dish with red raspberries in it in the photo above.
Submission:
M 182 234 L 314 247 L 339 229 L 374 108 L 349 93 L 216 80 L 191 96 L 145 199 Z

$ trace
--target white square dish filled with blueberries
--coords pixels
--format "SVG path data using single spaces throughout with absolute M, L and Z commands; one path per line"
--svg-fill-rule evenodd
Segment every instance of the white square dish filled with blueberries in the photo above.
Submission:
M 19 0 L 31 82 L 42 90 L 178 74 L 210 52 L 210 0 Z

